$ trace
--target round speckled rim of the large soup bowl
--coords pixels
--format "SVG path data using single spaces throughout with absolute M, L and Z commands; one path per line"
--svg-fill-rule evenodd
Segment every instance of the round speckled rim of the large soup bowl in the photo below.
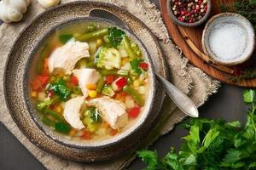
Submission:
M 31 64 L 32 64 L 32 59 L 35 58 L 36 54 L 38 53 L 38 50 L 42 47 L 42 44 L 44 44 L 45 40 L 47 40 L 48 37 L 50 37 L 53 33 L 55 33 L 55 31 L 61 29 L 61 28 L 65 28 L 67 26 L 72 26 L 73 24 L 79 24 L 79 23 L 86 23 L 86 22 L 98 22 L 98 23 L 106 23 L 107 25 L 112 25 L 112 26 L 116 26 L 119 29 L 122 29 L 123 31 L 125 31 L 126 33 L 128 32 L 129 37 L 131 36 L 132 40 L 135 40 L 136 42 L 139 42 L 139 46 L 141 46 L 143 48 L 143 51 L 145 52 L 145 59 L 149 61 L 150 65 L 149 65 L 149 76 L 151 79 L 151 87 L 150 87 L 150 91 L 152 95 L 151 99 L 147 99 L 147 103 L 145 105 L 145 109 L 148 110 L 148 112 L 143 111 L 143 114 L 146 116 L 143 116 L 143 122 L 138 122 L 139 120 L 137 120 L 137 122 L 135 124 L 137 124 L 136 127 L 134 127 L 135 125 L 132 125 L 131 127 L 129 127 L 128 129 L 125 130 L 125 132 L 120 133 L 119 135 L 111 138 L 111 139 L 106 139 L 107 141 L 113 141 L 113 142 L 108 142 L 107 144 L 104 144 L 103 141 L 97 142 L 99 144 L 93 144 L 93 143 L 88 143 L 88 145 L 86 143 L 84 144 L 71 144 L 71 143 L 66 143 L 61 139 L 58 138 L 53 138 L 53 136 L 49 133 L 47 133 L 48 131 L 46 131 L 44 129 L 44 126 L 41 125 L 41 122 L 38 120 L 38 118 L 35 116 L 35 114 L 37 111 L 35 111 L 35 109 L 32 106 L 32 102 L 31 99 L 29 97 L 29 76 L 27 76 L 27 73 L 30 71 L 31 69 Z M 143 44 L 143 42 L 131 31 L 129 31 L 128 29 L 126 29 L 125 27 L 120 27 L 118 26 L 116 23 L 114 23 L 111 20 L 106 20 L 103 18 L 98 18 L 98 17 L 91 17 L 91 16 L 84 16 L 84 17 L 77 17 L 77 18 L 73 18 L 73 19 L 69 19 L 69 20 L 65 20 L 62 21 L 61 23 L 55 25 L 53 28 L 51 28 L 48 32 L 46 32 L 44 34 L 44 36 L 38 41 L 38 44 L 32 49 L 32 52 L 29 54 L 29 59 L 27 59 L 26 61 L 26 67 L 25 67 L 25 71 L 23 74 L 23 95 L 24 98 L 26 99 L 26 107 L 27 110 L 29 111 L 32 120 L 37 124 L 38 128 L 40 128 L 44 134 L 46 136 L 48 136 L 50 139 L 55 140 L 56 142 L 60 143 L 60 144 L 65 144 L 67 146 L 71 146 L 73 148 L 79 148 L 79 149 L 83 149 L 83 148 L 95 148 L 95 147 L 106 147 L 109 146 L 110 144 L 115 144 L 118 143 L 119 141 L 125 140 L 127 138 L 127 136 L 135 133 L 135 131 L 137 131 L 137 129 L 139 129 L 140 127 L 143 126 L 143 123 L 146 121 L 147 117 L 150 115 L 150 111 L 152 111 L 153 109 L 153 105 L 152 103 L 154 102 L 154 95 L 156 93 L 155 91 L 155 87 L 156 87 L 156 79 L 155 79 L 155 75 L 154 75 L 154 66 L 153 66 L 153 62 L 151 59 L 150 54 L 148 53 L 148 49 L 145 47 L 145 45 Z M 133 129 L 133 130 L 132 130 Z M 131 131 L 132 130 L 132 131 Z M 52 131 L 52 130 L 50 130 Z M 125 134 L 125 135 L 123 135 Z M 61 136 L 61 135 L 59 135 Z M 116 140 L 113 140 L 116 139 Z M 103 144 L 102 144 L 103 143 Z

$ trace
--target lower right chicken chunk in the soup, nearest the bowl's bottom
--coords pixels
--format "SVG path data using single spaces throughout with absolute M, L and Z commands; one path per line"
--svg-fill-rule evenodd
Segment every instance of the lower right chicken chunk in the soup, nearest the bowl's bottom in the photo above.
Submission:
M 101 112 L 102 118 L 113 129 L 124 127 L 128 122 L 128 114 L 125 111 L 125 106 L 116 100 L 102 97 L 91 99 L 86 105 L 95 106 Z

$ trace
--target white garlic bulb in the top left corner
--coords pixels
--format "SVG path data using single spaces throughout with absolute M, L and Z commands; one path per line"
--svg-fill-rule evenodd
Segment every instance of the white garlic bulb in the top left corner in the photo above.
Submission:
M 30 0 L 0 1 L 0 19 L 5 23 L 21 20 L 29 3 Z

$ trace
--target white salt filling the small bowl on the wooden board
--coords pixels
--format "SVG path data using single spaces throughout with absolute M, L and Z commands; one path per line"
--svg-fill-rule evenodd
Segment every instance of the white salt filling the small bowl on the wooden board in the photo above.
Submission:
M 247 34 L 240 26 L 220 23 L 212 28 L 209 45 L 212 53 L 219 59 L 237 59 L 245 52 Z

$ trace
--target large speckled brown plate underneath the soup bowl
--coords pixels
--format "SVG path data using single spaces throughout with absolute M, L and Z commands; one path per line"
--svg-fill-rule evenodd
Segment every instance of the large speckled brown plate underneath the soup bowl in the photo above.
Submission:
M 146 119 L 143 126 L 135 133 L 131 133 L 125 140 L 118 144 L 109 144 L 108 147 L 98 147 L 94 150 L 87 148 L 79 149 L 73 146 L 60 144 L 50 139 L 32 120 L 32 116 L 26 108 L 26 99 L 24 98 L 23 75 L 26 62 L 32 49 L 56 25 L 65 20 L 71 20 L 77 17 L 88 16 L 92 8 L 103 8 L 119 16 L 124 20 L 131 31 L 144 43 L 149 54 L 153 57 L 154 70 L 164 77 L 168 77 L 166 61 L 160 45 L 148 27 L 142 21 L 137 20 L 135 16 L 123 8 L 119 8 L 107 3 L 96 2 L 73 2 L 51 8 L 32 21 L 15 41 L 13 48 L 9 53 L 9 58 L 5 66 L 4 73 L 4 94 L 9 111 L 17 126 L 28 139 L 39 148 L 49 151 L 56 156 L 72 161 L 104 161 L 115 156 L 120 156 L 127 152 L 136 150 L 139 141 L 147 135 L 153 122 L 160 116 L 160 108 L 165 98 L 165 92 L 156 86 L 156 95 L 154 96 L 153 111 Z

